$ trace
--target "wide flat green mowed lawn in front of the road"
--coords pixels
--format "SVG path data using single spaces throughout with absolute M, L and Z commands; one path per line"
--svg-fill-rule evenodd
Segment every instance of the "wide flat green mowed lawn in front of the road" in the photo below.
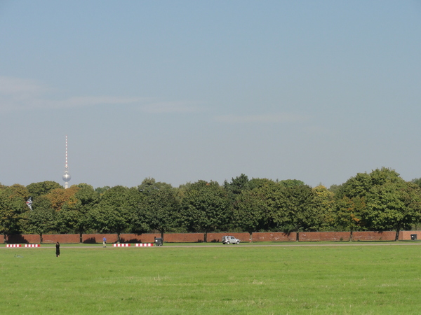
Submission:
M 418 244 L 61 252 L 0 248 L 0 314 L 421 312 Z

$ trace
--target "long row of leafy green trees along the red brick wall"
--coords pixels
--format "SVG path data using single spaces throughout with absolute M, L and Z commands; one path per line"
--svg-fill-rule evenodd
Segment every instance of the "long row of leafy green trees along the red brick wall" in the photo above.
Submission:
M 0 229 L 5 236 L 36 233 L 41 241 L 50 232 L 203 232 L 206 241 L 208 232 L 329 230 L 396 230 L 397 239 L 421 222 L 420 183 L 383 167 L 329 189 L 244 174 L 223 185 L 196 181 L 178 188 L 151 178 L 132 188 L 0 185 Z

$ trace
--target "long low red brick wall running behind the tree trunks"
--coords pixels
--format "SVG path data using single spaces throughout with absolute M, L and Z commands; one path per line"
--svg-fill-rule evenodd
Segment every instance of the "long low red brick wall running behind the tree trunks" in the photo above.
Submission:
M 208 242 L 219 243 L 224 235 L 232 235 L 242 242 L 249 241 L 394 241 L 396 232 L 255 232 L 251 235 L 248 233 L 208 233 Z M 417 235 L 417 240 L 421 239 L 421 231 L 401 231 L 399 232 L 399 240 L 411 240 L 411 235 Z M 100 244 L 102 237 L 107 239 L 107 243 L 117 242 L 116 234 L 84 234 L 82 242 L 85 244 Z M 161 237 L 159 233 L 145 234 L 121 234 L 121 243 L 154 243 L 155 237 Z M 351 239 L 350 239 L 351 238 Z M 200 243 L 204 241 L 203 233 L 166 233 L 163 240 L 168 243 Z M 59 241 L 61 244 L 77 244 L 80 242 L 79 234 L 46 234 L 43 235 L 43 244 L 55 244 Z M 8 235 L 6 241 L 3 235 L 0 235 L 0 243 L 4 244 L 40 244 L 39 235 Z

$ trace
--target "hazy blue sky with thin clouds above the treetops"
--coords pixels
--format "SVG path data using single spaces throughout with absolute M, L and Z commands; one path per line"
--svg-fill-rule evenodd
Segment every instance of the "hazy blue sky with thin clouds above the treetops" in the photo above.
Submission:
M 0 183 L 421 177 L 421 1 L 1 1 Z

